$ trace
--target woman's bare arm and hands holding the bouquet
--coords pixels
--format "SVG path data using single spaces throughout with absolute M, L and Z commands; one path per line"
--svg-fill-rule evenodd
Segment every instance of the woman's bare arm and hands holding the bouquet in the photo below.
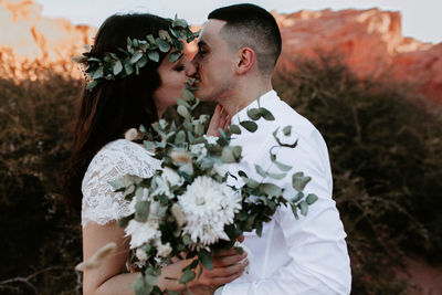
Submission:
M 137 280 L 138 273 L 123 273 L 129 253 L 128 238 L 124 238 L 124 229 L 116 222 L 105 225 L 88 223 L 83 228 L 83 254 L 84 260 L 90 259 L 103 245 L 114 242 L 117 247 L 108 256 L 104 257 L 99 267 L 86 270 L 83 276 L 83 293 L 88 294 L 134 294 L 130 286 Z M 213 259 L 213 270 L 204 270 L 199 280 L 191 282 L 192 288 L 209 287 L 214 289 L 220 285 L 238 278 L 248 263 L 240 263 L 244 255 L 239 255 L 233 250 L 220 251 Z M 182 292 L 183 285 L 178 283 L 181 270 L 191 263 L 182 260 L 162 268 L 158 278 L 158 286 L 165 291 Z M 198 273 L 198 270 L 197 270 Z M 169 277 L 177 278 L 168 280 Z

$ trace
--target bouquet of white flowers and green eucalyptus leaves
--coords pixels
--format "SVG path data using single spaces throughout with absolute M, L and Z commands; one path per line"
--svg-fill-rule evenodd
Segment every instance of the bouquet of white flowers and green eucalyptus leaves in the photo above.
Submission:
M 209 116 L 192 116 L 199 101 L 191 85 L 187 86 L 183 99 L 178 99 L 178 124 L 160 119 L 151 126 L 152 130 L 140 126 L 139 130 L 126 133 L 128 139 L 143 137 L 144 147 L 162 161 L 162 169 L 150 178 L 127 175 L 109 182 L 130 201 L 135 212 L 119 224 L 130 235 L 134 262 L 141 268 L 134 284 L 137 294 L 161 294 L 156 286 L 157 277 L 161 266 L 170 263 L 173 256 L 186 253 L 187 259 L 194 257 L 178 278 L 187 286 L 197 277 L 199 263 L 209 270 L 213 267 L 213 251 L 234 246 L 244 231 L 255 230 L 261 235 L 263 223 L 271 220 L 280 206 L 291 206 L 297 219 L 298 212 L 306 215 L 308 206 L 317 200 L 315 194 L 304 196 L 304 187 L 311 178 L 303 172 L 292 176 L 297 194 L 288 200 L 283 197 L 284 190 L 271 180 L 286 177 L 292 167 L 277 161 L 273 149 L 269 151 L 270 158 L 280 173 L 255 166 L 262 177 L 260 181 L 244 171 L 230 175 L 229 165 L 239 162 L 242 154 L 240 146 L 230 145 L 230 139 L 242 131 L 255 131 L 255 120 L 273 120 L 274 117 L 263 107 L 251 108 L 250 119 L 240 123 L 242 128 L 231 125 L 227 131 L 220 129 L 219 138 L 208 138 L 204 131 Z M 275 130 L 275 147 L 295 148 L 296 141 L 287 144 L 280 138 L 290 137 L 291 131 L 291 126 Z M 227 185 L 228 177 L 236 178 L 242 185 Z

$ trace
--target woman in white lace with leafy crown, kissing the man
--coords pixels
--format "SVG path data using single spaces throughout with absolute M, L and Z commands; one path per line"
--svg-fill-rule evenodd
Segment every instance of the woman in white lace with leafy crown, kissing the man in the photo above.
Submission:
M 168 20 L 151 14 L 113 15 L 99 28 L 92 56 L 103 59 L 104 53 L 117 54 L 118 49 L 126 48 L 128 36 L 138 40 L 148 34 L 158 36 L 159 30 L 167 31 L 169 24 Z M 160 169 L 159 160 L 123 135 L 129 128 L 141 124 L 148 128 L 158 120 L 166 108 L 182 96 L 185 82 L 194 71 L 185 56 L 171 63 L 168 54 L 160 53 L 159 62 L 147 63 L 139 75 L 105 81 L 83 92 L 73 124 L 66 196 L 72 208 L 81 211 L 85 261 L 109 242 L 117 245 L 99 267 L 84 272 L 84 294 L 134 294 L 130 284 L 138 274 L 126 271 L 125 266 L 130 256 L 130 238 L 125 238 L 124 229 L 117 224 L 118 219 L 133 212 L 123 194 L 114 192 L 108 181 L 127 173 L 147 178 Z M 218 130 L 223 124 L 217 119 L 210 129 Z M 213 292 L 235 280 L 248 265 L 248 262 L 240 263 L 244 259 L 245 254 L 233 250 L 220 251 L 213 257 L 215 267 L 204 270 L 199 280 L 190 283 L 191 289 Z M 158 286 L 162 291 L 182 292 L 181 284 L 167 277 L 179 278 L 189 263 L 190 260 L 177 260 L 165 266 Z

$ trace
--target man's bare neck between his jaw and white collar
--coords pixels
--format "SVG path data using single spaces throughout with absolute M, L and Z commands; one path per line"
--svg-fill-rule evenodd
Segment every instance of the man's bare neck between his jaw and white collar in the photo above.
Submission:
M 232 117 L 272 88 L 271 80 L 254 80 L 246 83 L 239 83 L 234 92 L 230 96 L 222 98 L 219 103 L 224 107 L 230 117 Z

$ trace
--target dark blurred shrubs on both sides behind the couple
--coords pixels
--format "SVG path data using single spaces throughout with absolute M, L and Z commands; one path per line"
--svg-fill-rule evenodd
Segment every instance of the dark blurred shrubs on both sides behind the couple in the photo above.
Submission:
M 387 74 L 356 77 L 338 56 L 295 63 L 274 88 L 328 145 L 352 294 L 408 294 L 413 286 L 397 275 L 403 257 L 442 264 L 441 108 Z M 0 78 L 0 294 L 81 293 L 80 219 L 56 189 L 81 87 L 50 73 Z

